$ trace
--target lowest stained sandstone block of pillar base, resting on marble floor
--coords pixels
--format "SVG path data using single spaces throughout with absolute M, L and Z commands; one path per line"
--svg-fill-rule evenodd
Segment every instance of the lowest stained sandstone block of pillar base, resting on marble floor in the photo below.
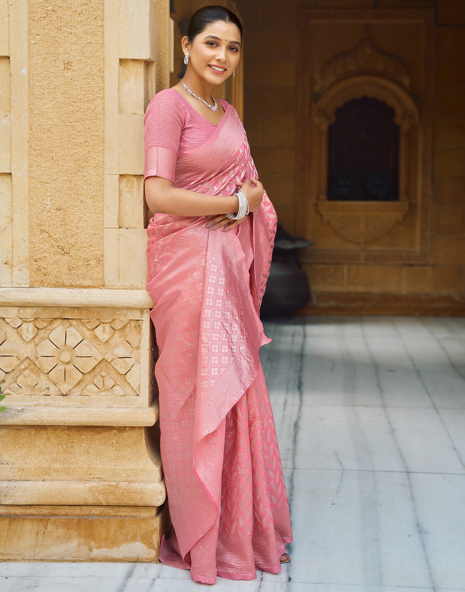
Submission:
M 0 506 L 2 561 L 157 562 L 167 504 Z

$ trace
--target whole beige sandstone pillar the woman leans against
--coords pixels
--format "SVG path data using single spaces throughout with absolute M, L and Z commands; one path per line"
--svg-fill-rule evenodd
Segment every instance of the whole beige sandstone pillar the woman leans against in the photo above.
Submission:
M 0 559 L 157 561 L 143 118 L 168 0 L 0 0 Z

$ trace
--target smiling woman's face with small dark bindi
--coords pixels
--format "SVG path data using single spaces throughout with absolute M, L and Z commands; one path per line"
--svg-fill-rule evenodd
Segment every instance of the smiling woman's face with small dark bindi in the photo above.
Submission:
M 233 75 L 241 56 L 241 33 L 232 22 L 215 21 L 194 37 L 189 65 L 196 75 L 212 85 Z

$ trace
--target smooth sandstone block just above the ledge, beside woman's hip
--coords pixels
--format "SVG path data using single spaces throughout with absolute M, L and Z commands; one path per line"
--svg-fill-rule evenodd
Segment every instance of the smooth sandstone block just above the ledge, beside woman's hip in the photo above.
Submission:
M 120 229 L 120 285 L 145 288 L 147 284 L 147 232 L 145 229 Z

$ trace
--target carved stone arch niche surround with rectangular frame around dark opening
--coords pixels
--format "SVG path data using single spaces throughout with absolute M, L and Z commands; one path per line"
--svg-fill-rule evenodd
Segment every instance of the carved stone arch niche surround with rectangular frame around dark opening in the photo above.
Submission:
M 427 260 L 431 175 L 431 72 L 428 61 L 386 50 L 389 35 L 386 25 L 398 28 L 393 50 L 399 49 L 400 31 L 408 31 L 413 14 L 423 26 L 423 52 L 428 48 L 429 13 L 425 11 L 302 11 L 301 43 L 312 44 L 314 54 L 300 64 L 298 166 L 298 229 L 314 246 L 306 260 L 332 262 L 419 262 Z M 377 13 L 376 15 L 374 13 Z M 383 18 L 384 17 L 384 18 Z M 426 18 L 428 17 L 428 18 Z M 345 22 L 344 22 L 345 21 Z M 338 26 L 345 27 L 347 38 L 357 38 L 344 51 Z M 383 33 L 383 50 L 377 45 L 377 25 Z M 321 29 L 327 27 L 321 36 Z M 348 27 L 348 29 L 347 29 Z M 353 30 L 350 31 L 350 27 Z M 319 30 L 319 37 L 317 33 Z M 347 33 L 348 31 L 348 33 Z M 342 33 L 342 30 L 341 30 Z M 402 34 L 401 34 L 402 36 Z M 397 44 L 396 44 L 397 40 Z M 319 43 L 319 45 L 318 45 Z M 334 51 L 331 52 L 331 44 Z M 301 46 L 302 49 L 303 46 Z M 391 48 L 389 48 L 390 50 Z M 401 52 L 402 53 L 402 46 Z M 302 51 L 300 52 L 303 55 Z M 330 55 L 329 59 L 321 56 Z M 422 76 L 409 72 L 423 69 Z M 426 69 L 425 69 L 426 68 Z M 430 63 L 431 69 L 431 63 Z M 426 86 L 429 81 L 430 86 Z M 423 88 L 421 88 L 422 85 Z M 336 120 L 337 110 L 350 101 L 372 98 L 387 105 L 399 130 L 398 200 L 335 201 L 328 200 L 328 130 Z

